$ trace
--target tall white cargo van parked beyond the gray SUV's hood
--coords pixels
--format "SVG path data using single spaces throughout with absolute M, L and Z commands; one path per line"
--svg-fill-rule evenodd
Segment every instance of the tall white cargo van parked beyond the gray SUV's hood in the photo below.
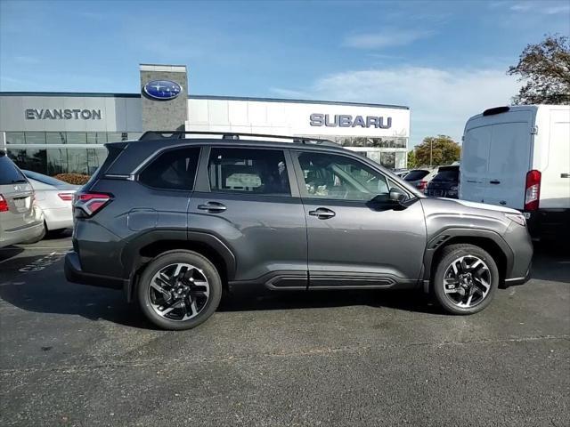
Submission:
M 524 212 L 533 238 L 570 229 L 570 106 L 486 109 L 465 125 L 460 163 L 461 199 Z

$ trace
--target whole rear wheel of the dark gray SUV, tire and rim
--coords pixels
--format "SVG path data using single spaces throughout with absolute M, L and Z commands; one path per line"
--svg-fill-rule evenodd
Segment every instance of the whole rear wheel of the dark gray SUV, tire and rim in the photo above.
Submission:
M 214 264 L 191 251 L 170 251 L 149 263 L 137 287 L 142 312 L 164 329 L 190 329 L 217 309 L 222 281 Z

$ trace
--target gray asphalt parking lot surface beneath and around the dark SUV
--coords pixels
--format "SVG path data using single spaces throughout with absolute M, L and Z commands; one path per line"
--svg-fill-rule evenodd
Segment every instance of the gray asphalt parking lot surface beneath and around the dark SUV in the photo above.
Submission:
M 0 249 L 0 424 L 570 422 L 570 254 L 469 317 L 422 294 L 236 293 L 197 329 L 151 327 L 72 285 L 70 238 Z

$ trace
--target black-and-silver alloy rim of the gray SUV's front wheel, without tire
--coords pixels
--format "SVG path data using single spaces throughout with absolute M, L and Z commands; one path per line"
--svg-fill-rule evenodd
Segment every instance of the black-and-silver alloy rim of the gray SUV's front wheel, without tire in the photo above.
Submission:
M 485 300 L 493 278 L 485 262 L 475 255 L 455 259 L 445 270 L 444 294 L 457 307 L 468 309 Z

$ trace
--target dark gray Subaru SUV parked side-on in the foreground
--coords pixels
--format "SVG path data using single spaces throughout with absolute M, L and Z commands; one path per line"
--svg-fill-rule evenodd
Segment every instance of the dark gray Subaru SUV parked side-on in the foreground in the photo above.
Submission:
M 232 287 L 418 288 L 468 314 L 528 275 L 517 211 L 424 197 L 329 141 L 213 136 L 107 144 L 74 203 L 69 281 L 123 289 L 185 329 Z

